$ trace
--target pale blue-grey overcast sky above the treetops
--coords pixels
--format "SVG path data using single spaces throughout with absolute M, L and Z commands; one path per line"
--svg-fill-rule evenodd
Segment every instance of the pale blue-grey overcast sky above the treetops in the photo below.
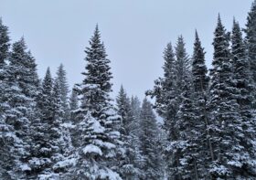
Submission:
M 195 29 L 212 59 L 218 13 L 231 29 L 233 16 L 246 23 L 252 0 L 0 0 L 0 16 L 12 41 L 24 36 L 37 58 L 42 78 L 47 67 L 63 63 L 69 84 L 81 81 L 84 49 L 98 23 L 112 60 L 114 94 L 121 84 L 129 95 L 144 97 L 162 76 L 163 50 L 183 35 L 191 55 Z

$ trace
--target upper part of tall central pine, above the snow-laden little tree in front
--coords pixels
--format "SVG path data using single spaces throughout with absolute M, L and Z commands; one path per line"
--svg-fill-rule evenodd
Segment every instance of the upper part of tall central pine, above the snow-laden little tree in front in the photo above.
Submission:
M 82 95 L 81 109 L 91 111 L 91 115 L 100 118 L 102 109 L 110 106 L 112 91 L 112 72 L 110 71 L 110 60 L 107 58 L 98 26 L 91 37 L 90 48 L 86 48 L 87 57 L 86 71 L 82 72 L 86 78 L 79 85 L 78 94 Z M 78 88 L 79 89 L 79 88 Z M 87 93 L 85 93 L 87 92 Z M 89 93 L 90 92 L 90 93 Z

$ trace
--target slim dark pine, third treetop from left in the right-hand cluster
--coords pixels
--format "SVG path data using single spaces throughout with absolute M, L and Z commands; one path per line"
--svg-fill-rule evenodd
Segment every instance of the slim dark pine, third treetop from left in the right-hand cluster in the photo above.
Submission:
M 208 69 L 205 63 L 205 52 L 204 48 L 201 46 L 201 41 L 197 35 L 195 36 L 194 43 L 194 52 L 192 58 L 192 91 L 193 94 L 190 96 L 192 98 L 194 109 L 191 110 L 191 113 L 194 113 L 195 124 L 193 131 L 197 132 L 197 170 L 198 177 L 206 177 L 206 166 L 210 161 L 212 154 L 212 144 L 209 141 L 209 132 L 208 132 L 208 113 L 207 113 L 207 90 L 208 90 Z M 202 121 L 203 120 L 203 121 Z

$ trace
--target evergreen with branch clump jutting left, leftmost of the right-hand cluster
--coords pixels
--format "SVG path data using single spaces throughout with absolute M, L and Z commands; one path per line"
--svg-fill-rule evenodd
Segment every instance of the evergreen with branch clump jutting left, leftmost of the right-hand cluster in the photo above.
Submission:
M 181 41 L 183 42 L 183 41 Z M 181 46 L 180 46 L 181 47 Z M 180 58 L 182 59 L 182 58 Z M 147 91 L 148 95 L 155 97 L 155 109 L 164 118 L 166 132 L 165 160 L 168 178 L 176 179 L 176 165 L 178 158 L 171 149 L 171 142 L 177 140 L 175 129 L 176 112 L 178 111 L 177 86 L 177 63 L 175 53 L 171 43 L 167 44 L 164 51 L 164 78 L 155 80 L 155 87 L 152 91 Z

